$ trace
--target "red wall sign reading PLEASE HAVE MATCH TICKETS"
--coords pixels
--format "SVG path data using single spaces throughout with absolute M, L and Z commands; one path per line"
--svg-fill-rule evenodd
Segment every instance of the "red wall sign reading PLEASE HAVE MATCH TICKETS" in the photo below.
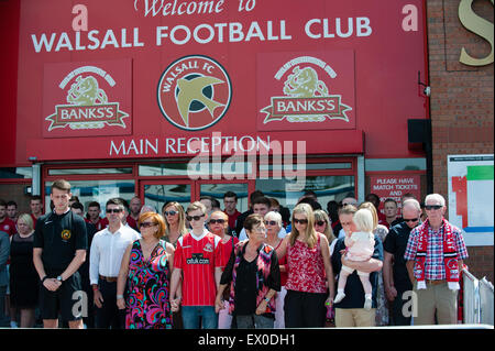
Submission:
M 419 175 L 378 175 L 370 177 L 370 193 L 380 196 L 380 210 L 383 212 L 383 202 L 392 198 L 402 208 L 405 194 L 413 194 L 421 202 L 421 178 Z

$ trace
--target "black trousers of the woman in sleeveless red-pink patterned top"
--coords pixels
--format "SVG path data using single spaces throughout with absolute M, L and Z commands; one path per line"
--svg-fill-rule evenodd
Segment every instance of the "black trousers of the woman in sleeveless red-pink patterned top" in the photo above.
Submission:
M 284 299 L 285 328 L 324 327 L 328 294 L 287 290 Z

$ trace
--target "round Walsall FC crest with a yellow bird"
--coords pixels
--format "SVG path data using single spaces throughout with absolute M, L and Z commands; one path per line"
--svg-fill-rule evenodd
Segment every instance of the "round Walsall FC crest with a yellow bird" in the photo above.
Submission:
M 223 67 L 207 56 L 185 56 L 170 64 L 158 83 L 162 114 L 184 130 L 202 130 L 226 114 L 232 98 Z

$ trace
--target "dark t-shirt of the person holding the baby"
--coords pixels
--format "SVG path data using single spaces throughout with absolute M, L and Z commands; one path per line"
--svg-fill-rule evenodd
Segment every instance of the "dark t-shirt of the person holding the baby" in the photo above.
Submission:
M 345 250 L 344 238 L 338 239 L 336 243 L 336 248 L 333 250 L 333 254 L 331 256 L 333 274 L 339 274 L 342 268 L 341 261 L 341 250 Z M 383 244 L 382 240 L 375 235 L 375 251 L 373 252 L 372 259 L 376 259 L 383 261 Z M 378 287 L 378 273 L 381 272 L 372 272 L 370 273 L 370 283 L 373 287 L 372 308 L 376 308 L 376 290 Z M 352 274 L 348 276 L 348 282 L 345 284 L 345 297 L 339 304 L 336 304 L 336 308 L 364 308 L 364 288 L 361 279 L 358 275 L 358 272 L 354 271 Z

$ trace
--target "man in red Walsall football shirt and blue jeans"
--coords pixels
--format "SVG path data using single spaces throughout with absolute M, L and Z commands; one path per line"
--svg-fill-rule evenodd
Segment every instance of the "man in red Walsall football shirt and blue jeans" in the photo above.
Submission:
M 208 219 L 206 207 L 193 202 L 186 211 L 193 231 L 177 240 L 174 254 L 174 272 L 170 279 L 172 310 L 183 305 L 185 329 L 199 329 L 199 317 L 204 329 L 217 329 L 215 312 L 217 288 L 222 275 L 220 237 L 205 228 Z M 183 296 L 176 296 L 183 276 Z

